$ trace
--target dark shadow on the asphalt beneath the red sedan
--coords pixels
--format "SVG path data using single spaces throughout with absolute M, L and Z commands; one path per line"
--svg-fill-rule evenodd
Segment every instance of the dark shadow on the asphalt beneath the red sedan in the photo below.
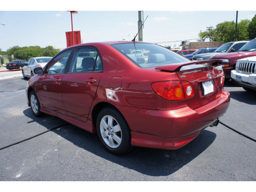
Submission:
M 38 124 L 44 125 L 47 129 L 51 127 L 50 125 L 45 125 L 47 118 L 49 118 L 48 115 L 36 118 L 27 110 L 24 111 L 24 115 L 29 116 Z M 77 147 L 95 154 L 95 156 L 151 176 L 165 176 L 177 172 L 177 170 L 202 154 L 216 139 L 214 132 L 204 130 L 195 140 L 178 150 L 134 147 L 129 154 L 115 156 L 103 147 L 97 138 L 97 134 L 84 131 L 74 125 L 67 124 L 60 129 L 52 130 L 52 132 L 55 132 Z

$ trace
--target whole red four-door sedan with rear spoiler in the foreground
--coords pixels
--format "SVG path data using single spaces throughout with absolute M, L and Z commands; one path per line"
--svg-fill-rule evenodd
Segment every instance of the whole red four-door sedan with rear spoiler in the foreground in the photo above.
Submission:
M 155 44 L 80 44 L 28 81 L 33 114 L 97 132 L 113 154 L 132 146 L 177 149 L 227 111 L 219 60 L 189 61 Z

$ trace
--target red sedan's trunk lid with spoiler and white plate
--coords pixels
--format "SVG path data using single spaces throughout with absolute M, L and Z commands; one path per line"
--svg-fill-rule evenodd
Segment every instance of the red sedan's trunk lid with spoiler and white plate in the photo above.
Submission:
M 196 109 L 219 97 L 223 89 L 223 85 L 220 86 L 223 76 L 220 63 L 220 60 L 195 61 L 156 67 L 156 70 L 176 72 L 180 81 L 189 82 L 193 87 L 194 95 L 186 98 L 186 103 L 189 108 Z

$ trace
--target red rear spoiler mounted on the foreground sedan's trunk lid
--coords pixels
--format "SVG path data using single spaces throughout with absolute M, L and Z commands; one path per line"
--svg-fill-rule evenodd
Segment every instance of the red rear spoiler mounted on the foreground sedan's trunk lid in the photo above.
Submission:
M 221 65 L 221 60 L 202 60 L 202 61 L 189 61 L 186 63 L 177 63 L 173 65 L 165 65 L 156 67 L 156 70 L 166 71 L 166 72 L 178 72 L 180 68 L 186 65 L 198 65 L 198 64 L 211 64 L 211 65 Z

